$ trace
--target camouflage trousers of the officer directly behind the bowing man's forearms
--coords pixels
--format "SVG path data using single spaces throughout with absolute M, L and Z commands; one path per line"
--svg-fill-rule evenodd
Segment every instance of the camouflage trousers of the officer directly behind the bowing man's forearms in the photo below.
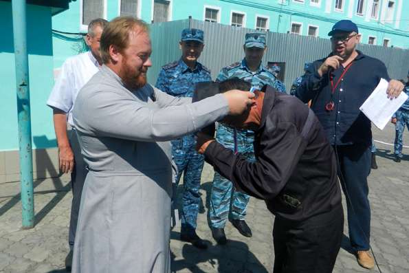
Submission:
M 234 130 L 219 124 L 216 140 L 226 148 L 234 151 Z M 237 152 L 247 160 L 254 161 L 254 133 L 237 131 Z M 232 182 L 214 172 L 210 196 L 210 226 L 224 228 L 229 214 L 232 219 L 244 219 L 250 196 L 234 190 Z

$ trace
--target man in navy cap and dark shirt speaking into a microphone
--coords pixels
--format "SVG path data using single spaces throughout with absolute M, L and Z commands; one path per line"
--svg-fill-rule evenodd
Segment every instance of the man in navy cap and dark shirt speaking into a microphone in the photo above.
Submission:
M 303 102 L 312 100 L 311 109 L 324 127 L 338 158 L 338 175 L 347 197 L 349 239 L 357 262 L 374 267 L 370 250 L 371 208 L 367 177 L 371 171 L 371 120 L 360 106 L 381 78 L 389 81 L 387 94 L 393 99 L 404 85 L 391 80 L 382 61 L 356 50 L 361 35 L 357 25 L 341 20 L 333 25 L 332 52 L 312 63 L 305 80 L 296 89 Z

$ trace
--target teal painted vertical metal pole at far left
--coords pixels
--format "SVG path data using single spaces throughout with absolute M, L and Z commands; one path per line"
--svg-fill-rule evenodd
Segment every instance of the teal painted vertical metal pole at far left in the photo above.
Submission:
M 17 115 L 23 229 L 34 227 L 33 165 L 30 118 L 30 88 L 25 0 L 12 0 L 14 57 L 16 62 Z

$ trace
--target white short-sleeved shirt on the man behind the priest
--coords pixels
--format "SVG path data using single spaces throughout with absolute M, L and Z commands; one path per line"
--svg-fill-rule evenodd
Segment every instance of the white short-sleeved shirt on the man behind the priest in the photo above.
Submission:
M 91 52 L 67 58 L 61 67 L 60 75 L 49 94 L 47 105 L 67 113 L 67 122 L 73 126 L 71 111 L 78 91 L 99 71 L 100 65 Z

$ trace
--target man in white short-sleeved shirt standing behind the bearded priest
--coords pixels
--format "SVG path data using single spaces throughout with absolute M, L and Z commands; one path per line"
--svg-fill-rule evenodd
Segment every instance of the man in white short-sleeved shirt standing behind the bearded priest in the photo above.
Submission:
M 108 21 L 104 19 L 94 19 L 89 23 L 88 33 L 85 36 L 89 52 L 67 58 L 47 100 L 47 105 L 53 109 L 60 170 L 63 173 L 71 172 L 73 198 L 69 221 L 70 252 L 65 259 L 65 266 L 69 271 L 71 271 L 72 250 L 74 249 L 82 187 L 87 176 L 87 169 L 74 131 L 71 110 L 74 107 L 78 91 L 99 71 L 102 65 L 100 38 L 107 23 Z

